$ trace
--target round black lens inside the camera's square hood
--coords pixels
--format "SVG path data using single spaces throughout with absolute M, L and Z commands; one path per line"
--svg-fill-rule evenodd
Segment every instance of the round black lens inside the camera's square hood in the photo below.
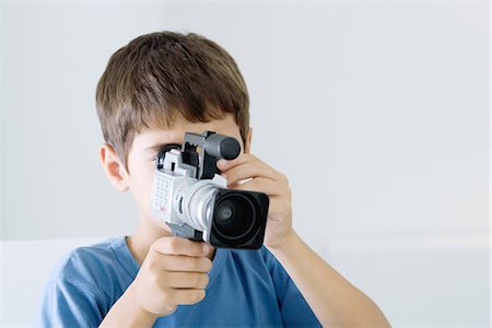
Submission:
M 224 239 L 244 237 L 256 222 L 251 201 L 242 194 L 226 194 L 215 204 L 214 227 Z

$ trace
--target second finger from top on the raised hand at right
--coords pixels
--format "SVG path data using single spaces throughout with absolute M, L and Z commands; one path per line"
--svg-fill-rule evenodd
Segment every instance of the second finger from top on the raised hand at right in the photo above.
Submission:
M 274 181 L 283 181 L 283 175 L 267 164 L 260 162 L 248 162 L 241 164 L 223 173 L 227 179 L 227 185 L 234 185 L 247 178 L 263 177 Z

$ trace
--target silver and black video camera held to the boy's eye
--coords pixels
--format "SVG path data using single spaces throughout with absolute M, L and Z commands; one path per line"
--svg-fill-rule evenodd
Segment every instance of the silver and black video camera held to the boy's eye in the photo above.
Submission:
M 216 162 L 233 160 L 239 142 L 212 131 L 185 133 L 180 150 L 161 150 L 152 188 L 152 213 L 177 236 L 224 248 L 259 248 L 267 224 L 266 194 L 227 189 Z

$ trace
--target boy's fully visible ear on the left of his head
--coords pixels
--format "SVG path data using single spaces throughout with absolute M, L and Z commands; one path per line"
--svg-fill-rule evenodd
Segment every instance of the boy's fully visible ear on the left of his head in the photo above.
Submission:
M 101 145 L 99 157 L 104 171 L 106 172 L 106 176 L 113 186 L 121 192 L 127 191 L 128 174 L 116 154 L 115 149 L 108 143 Z

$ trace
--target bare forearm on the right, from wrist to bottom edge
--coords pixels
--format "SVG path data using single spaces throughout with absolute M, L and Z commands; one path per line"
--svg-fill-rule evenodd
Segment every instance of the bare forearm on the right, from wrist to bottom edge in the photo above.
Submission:
M 325 327 L 390 327 L 377 305 L 313 251 L 295 232 L 270 249 Z

